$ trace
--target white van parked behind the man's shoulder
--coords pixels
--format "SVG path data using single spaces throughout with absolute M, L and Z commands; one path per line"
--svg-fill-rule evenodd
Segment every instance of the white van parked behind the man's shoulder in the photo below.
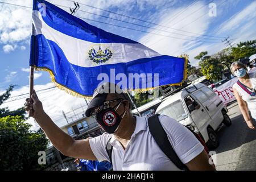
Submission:
M 199 133 L 209 148 L 218 147 L 216 131 L 222 123 L 230 126 L 228 109 L 212 89 L 204 84 L 189 85 L 171 94 L 156 109 Z

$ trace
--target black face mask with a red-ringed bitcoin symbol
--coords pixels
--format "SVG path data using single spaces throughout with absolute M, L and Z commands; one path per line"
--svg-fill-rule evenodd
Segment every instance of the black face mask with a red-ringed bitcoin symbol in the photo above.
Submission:
M 118 107 L 121 105 L 122 101 L 118 104 Z M 114 106 L 115 108 L 115 106 Z M 96 120 L 101 127 L 103 127 L 104 131 L 106 133 L 112 134 L 117 129 L 118 126 L 122 120 L 122 118 L 125 116 L 126 110 L 123 112 L 122 117 L 117 113 L 117 109 L 113 109 L 112 107 L 109 107 L 108 109 L 101 110 L 96 115 Z

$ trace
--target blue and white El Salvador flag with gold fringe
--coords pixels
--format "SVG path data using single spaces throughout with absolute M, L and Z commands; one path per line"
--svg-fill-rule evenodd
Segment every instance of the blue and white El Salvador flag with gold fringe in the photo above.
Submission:
M 139 85 L 122 85 L 122 89 L 180 85 L 186 78 L 187 59 L 160 55 L 138 42 L 94 27 L 47 1 L 34 0 L 30 65 L 48 71 L 60 88 L 92 96 L 102 82 L 98 75 L 105 73 L 110 78 L 113 71 L 117 77 L 119 73 L 125 75 L 127 83 L 132 74 L 152 75 L 141 77 Z M 111 79 L 115 84 L 121 81 L 120 77 Z

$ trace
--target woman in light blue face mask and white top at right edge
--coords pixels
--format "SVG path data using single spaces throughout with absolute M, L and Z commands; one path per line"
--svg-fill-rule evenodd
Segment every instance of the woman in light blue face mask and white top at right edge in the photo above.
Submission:
M 233 85 L 233 90 L 243 118 L 247 126 L 255 130 L 256 72 L 247 73 L 246 65 L 242 64 L 240 61 L 234 62 L 230 69 L 233 75 L 238 77 L 238 81 Z M 250 117 L 249 110 L 252 118 Z

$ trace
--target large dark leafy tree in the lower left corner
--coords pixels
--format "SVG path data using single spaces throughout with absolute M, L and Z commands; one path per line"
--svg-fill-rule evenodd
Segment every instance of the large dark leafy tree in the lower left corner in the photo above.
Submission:
M 39 170 L 38 152 L 46 151 L 48 139 L 42 130 L 30 131 L 21 116 L 0 118 L 0 170 Z

